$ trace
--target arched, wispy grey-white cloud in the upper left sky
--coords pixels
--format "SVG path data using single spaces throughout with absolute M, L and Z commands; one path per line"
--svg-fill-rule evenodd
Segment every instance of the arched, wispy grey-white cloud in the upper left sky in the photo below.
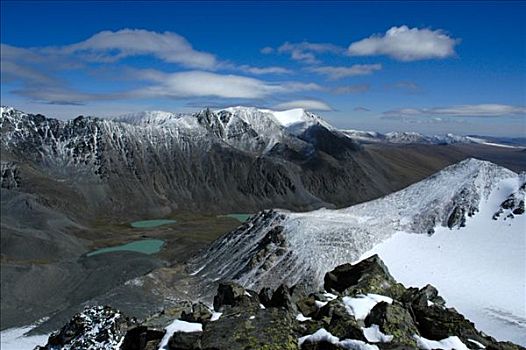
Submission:
M 165 62 L 187 67 L 213 69 L 218 65 L 214 55 L 195 50 L 179 34 L 143 29 L 103 31 L 85 41 L 58 50 L 84 54 L 87 59 L 102 62 L 113 62 L 129 56 L 152 55 Z

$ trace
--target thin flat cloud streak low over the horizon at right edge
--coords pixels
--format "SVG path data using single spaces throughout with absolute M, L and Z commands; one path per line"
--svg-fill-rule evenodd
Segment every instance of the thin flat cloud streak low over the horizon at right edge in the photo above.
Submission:
M 384 112 L 386 117 L 506 117 L 526 116 L 526 107 L 503 104 L 460 105 L 435 108 L 400 108 Z

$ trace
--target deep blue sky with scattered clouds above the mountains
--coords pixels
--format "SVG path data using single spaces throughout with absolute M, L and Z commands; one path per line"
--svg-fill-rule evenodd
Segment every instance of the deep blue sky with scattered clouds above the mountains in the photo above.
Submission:
M 1 99 L 59 118 L 255 105 L 524 136 L 525 17 L 502 1 L 2 1 Z

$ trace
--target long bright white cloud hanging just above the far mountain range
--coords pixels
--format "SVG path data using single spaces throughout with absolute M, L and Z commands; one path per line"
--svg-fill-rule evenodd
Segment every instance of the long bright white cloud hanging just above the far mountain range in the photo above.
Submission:
M 164 73 L 156 70 L 137 71 L 140 79 L 155 85 L 131 93 L 140 97 L 220 97 L 258 99 L 277 93 L 320 90 L 313 83 L 271 83 L 239 75 L 222 75 L 203 71 Z

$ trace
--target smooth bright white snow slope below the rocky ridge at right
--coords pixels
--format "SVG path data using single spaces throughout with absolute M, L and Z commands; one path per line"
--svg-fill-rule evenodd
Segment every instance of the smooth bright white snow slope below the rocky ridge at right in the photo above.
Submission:
M 363 258 L 378 254 L 407 286 L 431 283 L 449 306 L 500 340 L 526 345 L 526 217 L 492 220 L 517 188 L 501 181 L 466 227 L 434 235 L 398 232 Z

